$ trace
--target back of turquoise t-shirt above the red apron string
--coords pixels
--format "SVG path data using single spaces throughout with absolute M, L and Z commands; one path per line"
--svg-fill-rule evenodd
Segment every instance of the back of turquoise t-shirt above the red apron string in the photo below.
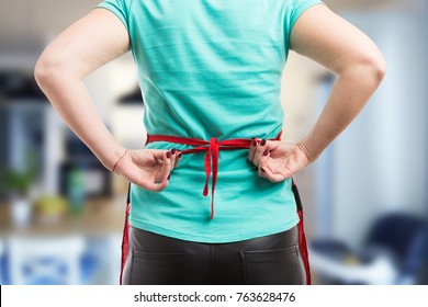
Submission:
M 304 2 L 304 5 L 295 7 Z M 126 25 L 149 134 L 269 137 L 281 129 L 292 24 L 319 1 L 111 0 Z

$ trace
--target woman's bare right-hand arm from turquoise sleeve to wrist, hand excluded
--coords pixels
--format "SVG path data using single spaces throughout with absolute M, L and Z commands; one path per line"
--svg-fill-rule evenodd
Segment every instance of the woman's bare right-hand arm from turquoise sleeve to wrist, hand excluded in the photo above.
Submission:
M 309 9 L 297 20 L 290 44 L 296 53 L 338 76 L 320 116 L 303 141 L 315 160 L 378 89 L 385 60 L 364 33 L 325 5 Z

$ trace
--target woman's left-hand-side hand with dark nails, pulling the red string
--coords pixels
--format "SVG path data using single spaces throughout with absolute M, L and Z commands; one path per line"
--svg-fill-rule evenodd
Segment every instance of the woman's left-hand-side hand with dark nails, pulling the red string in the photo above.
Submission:
M 168 186 L 171 171 L 181 157 L 176 149 L 126 150 L 113 172 L 145 190 L 159 192 Z

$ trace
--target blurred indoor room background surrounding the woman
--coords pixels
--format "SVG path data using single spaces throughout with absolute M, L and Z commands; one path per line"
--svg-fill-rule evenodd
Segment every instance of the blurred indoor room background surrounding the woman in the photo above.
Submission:
M 33 78 L 46 44 L 100 1 L 0 0 L 0 284 L 119 283 L 127 184 L 64 125 Z M 313 283 L 428 284 L 428 1 L 325 3 L 379 45 L 387 72 L 361 115 L 295 178 Z M 285 138 L 307 134 L 334 80 L 290 54 Z M 140 148 L 131 55 L 86 82 L 121 144 Z

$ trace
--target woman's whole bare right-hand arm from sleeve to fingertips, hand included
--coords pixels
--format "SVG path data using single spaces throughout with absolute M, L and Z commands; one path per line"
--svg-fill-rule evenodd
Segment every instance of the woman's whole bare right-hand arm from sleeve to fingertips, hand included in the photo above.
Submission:
M 259 167 L 261 177 L 273 182 L 290 178 L 315 161 L 360 113 L 385 73 L 385 60 L 375 44 L 326 5 L 315 5 L 300 16 L 290 45 L 338 78 L 303 141 L 267 141 L 250 148 L 249 160 Z

